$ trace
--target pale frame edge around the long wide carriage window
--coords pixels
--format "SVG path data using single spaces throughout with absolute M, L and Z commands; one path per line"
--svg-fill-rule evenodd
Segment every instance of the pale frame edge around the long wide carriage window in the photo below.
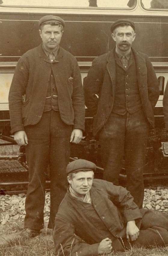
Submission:
M 3 1 L 3 0 L 2 0 Z M 129 0 L 127 0 L 129 2 Z M 84 10 L 132 10 L 133 8 L 135 8 L 135 6 L 137 5 L 137 1 L 135 0 L 135 3 L 133 4 L 133 6 L 131 7 L 92 7 L 92 6 L 87 6 L 87 7 L 78 7 L 78 6 L 44 6 L 44 5 L 7 5 L 7 4 L 0 4 L 0 7 L 13 7 L 13 8 L 56 8 L 56 9 L 84 9 Z M 0 1 L 1 2 L 1 1 Z

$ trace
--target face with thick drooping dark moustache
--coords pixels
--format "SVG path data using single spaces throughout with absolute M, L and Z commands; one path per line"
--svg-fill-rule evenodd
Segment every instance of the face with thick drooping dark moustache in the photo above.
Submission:
M 122 53 L 129 52 L 136 34 L 131 26 L 117 27 L 112 34 L 116 42 L 116 51 Z

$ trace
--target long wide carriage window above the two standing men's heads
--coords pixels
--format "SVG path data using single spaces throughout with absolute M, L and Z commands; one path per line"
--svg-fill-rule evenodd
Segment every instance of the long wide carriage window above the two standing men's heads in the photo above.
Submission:
M 136 1 L 137 0 L 0 0 L 0 5 L 77 8 L 131 8 L 136 5 Z

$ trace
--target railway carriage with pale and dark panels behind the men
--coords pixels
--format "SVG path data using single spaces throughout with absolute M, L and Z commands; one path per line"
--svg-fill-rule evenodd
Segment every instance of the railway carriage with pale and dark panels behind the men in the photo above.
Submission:
M 12 160 L 20 159 L 21 164 L 25 164 L 24 149 L 17 156 L 3 154 L 1 150 L 14 144 L 8 109 L 11 80 L 20 56 L 41 43 L 38 21 L 48 14 L 65 20 L 61 46 L 76 57 L 82 81 L 93 59 L 114 46 L 111 23 L 119 18 L 135 22 L 136 40 L 133 47 L 149 56 L 160 86 L 154 112 L 155 128 L 148 137 L 144 180 L 167 179 L 168 134 L 164 126 L 162 100 L 168 84 L 168 0 L 0 0 L 0 187 L 5 182 L 11 182 L 9 173 L 13 167 L 9 172 L 5 171 L 6 167 L 2 168 L 5 163 L 9 163 L 7 160 L 10 159 L 12 163 Z M 71 160 L 77 157 L 95 162 L 100 166 L 97 168 L 97 177 L 101 177 L 100 146 L 92 135 L 93 117 L 88 115 L 87 109 L 85 121 L 84 138 L 80 144 L 72 145 Z M 21 176 L 18 167 L 12 182 L 20 181 Z M 124 160 L 121 177 L 125 177 Z

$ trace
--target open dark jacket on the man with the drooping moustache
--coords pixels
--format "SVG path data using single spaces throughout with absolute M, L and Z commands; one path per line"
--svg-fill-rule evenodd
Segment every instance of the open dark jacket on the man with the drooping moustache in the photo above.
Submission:
M 147 55 L 132 49 L 136 62 L 139 94 L 145 116 L 154 127 L 154 107 L 159 97 L 159 85 L 154 68 Z M 93 135 L 107 122 L 112 111 L 116 88 L 114 49 L 93 60 L 84 81 L 85 105 L 94 116 Z M 99 98 L 96 96 L 98 95 Z

